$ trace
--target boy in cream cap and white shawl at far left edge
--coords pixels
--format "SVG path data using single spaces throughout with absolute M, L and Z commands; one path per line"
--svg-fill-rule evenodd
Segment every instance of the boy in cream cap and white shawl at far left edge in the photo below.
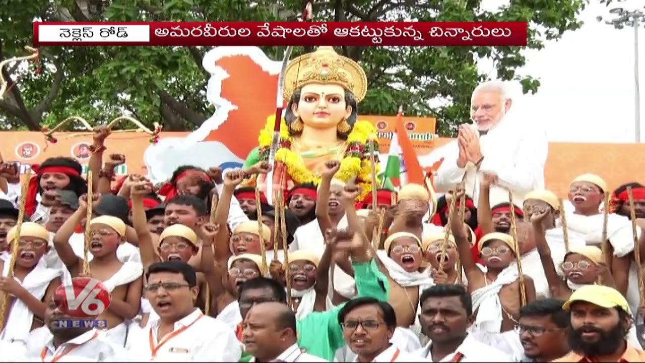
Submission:
M 12 276 L 8 276 L 11 258 L 0 261 L 0 295 L 10 295 L 2 340 L 25 344 L 30 331 L 43 325 L 46 303 L 61 284 L 61 270 L 47 268 L 43 258 L 50 248 L 48 237 L 47 230 L 34 222 L 23 223 L 20 240 L 17 227 L 7 233 L 7 242 L 17 254 Z

